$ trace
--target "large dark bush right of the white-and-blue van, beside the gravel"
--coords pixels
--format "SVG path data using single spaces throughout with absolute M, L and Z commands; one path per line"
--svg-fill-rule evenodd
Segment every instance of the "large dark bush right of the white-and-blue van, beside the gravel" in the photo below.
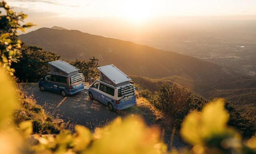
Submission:
M 185 87 L 162 84 L 158 88 L 159 91 L 152 97 L 152 104 L 178 127 L 190 110 L 200 108 L 197 106 L 198 102 L 193 102 L 191 91 Z

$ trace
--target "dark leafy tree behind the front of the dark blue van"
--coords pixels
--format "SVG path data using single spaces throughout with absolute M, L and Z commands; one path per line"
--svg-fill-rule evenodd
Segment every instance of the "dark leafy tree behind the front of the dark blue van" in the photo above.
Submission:
M 50 66 L 47 63 L 60 58 L 56 53 L 37 46 L 22 44 L 21 51 L 20 61 L 11 66 L 16 70 L 15 76 L 20 81 L 37 82 L 49 72 Z

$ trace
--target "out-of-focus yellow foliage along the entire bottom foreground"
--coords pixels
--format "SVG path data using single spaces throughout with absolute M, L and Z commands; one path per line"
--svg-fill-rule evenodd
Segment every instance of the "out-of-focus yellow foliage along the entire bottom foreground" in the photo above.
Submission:
M 13 123 L 11 113 L 19 107 L 19 95 L 3 69 L 0 75 L 0 150 L 5 153 L 167 153 L 159 130 L 145 126 L 137 116 L 124 120 L 119 117 L 108 126 L 96 128 L 94 133 L 76 125 L 74 134 L 67 130 L 57 135 L 31 135 L 31 120 Z M 36 106 L 27 107 L 41 112 Z M 185 151 L 256 152 L 255 140 L 243 141 L 239 133 L 226 125 L 227 121 L 228 113 L 221 99 L 206 105 L 202 112 L 190 113 L 181 126 L 181 135 L 193 148 Z

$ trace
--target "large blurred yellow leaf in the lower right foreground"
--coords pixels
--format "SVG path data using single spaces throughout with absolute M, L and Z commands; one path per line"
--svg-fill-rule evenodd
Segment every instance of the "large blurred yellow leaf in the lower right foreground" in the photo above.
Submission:
M 181 135 L 192 145 L 201 144 L 216 134 L 227 130 L 228 113 L 224 110 L 224 100 L 218 99 L 206 105 L 202 112 L 193 111 L 184 120 Z

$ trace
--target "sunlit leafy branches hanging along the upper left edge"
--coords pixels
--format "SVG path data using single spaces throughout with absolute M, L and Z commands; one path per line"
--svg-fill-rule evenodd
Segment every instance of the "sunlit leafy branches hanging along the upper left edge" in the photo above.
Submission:
M 26 14 L 16 13 L 10 9 L 5 1 L 0 2 L 0 8 L 3 8 L 6 12 L 5 15 L 0 11 L 0 65 L 6 68 L 11 75 L 13 75 L 14 69 L 11 68 L 12 62 L 17 62 L 21 57 L 21 41 L 12 39 L 17 35 L 17 30 L 25 31 L 25 28 L 32 27 L 32 23 L 20 24 L 25 18 Z

